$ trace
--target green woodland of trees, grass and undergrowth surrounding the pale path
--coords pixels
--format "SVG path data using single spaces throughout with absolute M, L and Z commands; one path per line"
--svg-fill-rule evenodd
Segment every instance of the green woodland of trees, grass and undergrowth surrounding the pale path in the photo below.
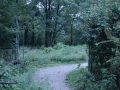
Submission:
M 120 90 L 119 36 L 119 0 L 1 0 L 0 90 L 43 90 L 36 68 L 85 61 L 75 90 Z

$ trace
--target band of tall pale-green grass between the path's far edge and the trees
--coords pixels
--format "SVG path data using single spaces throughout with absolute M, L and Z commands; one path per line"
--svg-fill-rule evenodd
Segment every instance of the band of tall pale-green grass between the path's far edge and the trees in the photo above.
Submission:
M 87 61 L 86 45 L 66 46 L 57 44 L 53 48 L 30 49 L 25 47 L 25 63 L 27 65 L 44 65 L 53 62 Z M 22 59 L 22 54 L 21 54 Z

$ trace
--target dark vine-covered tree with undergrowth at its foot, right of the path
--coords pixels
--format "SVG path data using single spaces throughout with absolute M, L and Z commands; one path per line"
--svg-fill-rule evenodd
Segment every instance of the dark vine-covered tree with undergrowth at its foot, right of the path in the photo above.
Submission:
M 119 1 L 108 0 L 89 9 L 88 69 L 68 75 L 75 90 L 120 90 L 119 5 Z

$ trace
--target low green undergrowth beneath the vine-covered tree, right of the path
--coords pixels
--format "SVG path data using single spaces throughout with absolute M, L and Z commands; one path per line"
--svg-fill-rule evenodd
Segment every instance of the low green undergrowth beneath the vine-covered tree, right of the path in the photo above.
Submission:
M 74 90 L 119 90 L 115 84 L 115 75 L 104 72 L 101 81 L 96 81 L 93 74 L 86 68 L 79 68 L 67 75 L 67 83 Z

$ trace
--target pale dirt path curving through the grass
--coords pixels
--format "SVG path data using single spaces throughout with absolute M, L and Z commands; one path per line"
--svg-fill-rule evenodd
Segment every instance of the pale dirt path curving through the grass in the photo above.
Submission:
M 87 66 L 87 63 L 81 63 L 81 67 Z M 41 68 L 35 72 L 34 80 L 42 82 L 48 80 L 53 90 L 72 90 L 66 86 L 66 74 L 76 69 L 78 64 L 59 65 L 47 68 Z

